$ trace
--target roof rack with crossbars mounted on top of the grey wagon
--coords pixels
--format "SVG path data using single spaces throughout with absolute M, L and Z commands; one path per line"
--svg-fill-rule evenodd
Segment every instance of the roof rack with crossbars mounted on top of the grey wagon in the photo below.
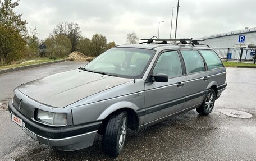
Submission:
M 191 44 L 191 45 L 205 45 L 209 47 L 209 45 L 206 44 L 199 44 L 199 41 L 204 41 L 204 39 L 193 39 L 193 38 L 182 38 L 182 39 L 153 39 L 156 36 L 153 36 L 151 39 L 140 39 L 140 40 L 148 40 L 147 42 L 142 42 L 140 44 L 173 44 L 172 42 L 177 42 L 174 45 L 179 45 L 179 44 Z M 155 42 L 153 42 L 155 41 Z M 167 43 L 170 41 L 170 43 Z M 159 43 L 161 42 L 161 43 Z

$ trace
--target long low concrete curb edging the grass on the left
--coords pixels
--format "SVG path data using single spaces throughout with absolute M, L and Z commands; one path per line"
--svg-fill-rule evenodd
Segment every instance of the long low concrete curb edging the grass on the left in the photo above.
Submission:
M 15 67 L 15 68 L 7 68 L 7 69 L 0 70 L 0 75 L 3 74 L 3 73 L 26 70 L 26 69 L 29 69 L 29 68 L 40 67 L 40 66 L 50 65 L 50 64 L 53 64 L 53 63 L 60 63 L 60 62 L 64 62 L 64 61 L 65 61 L 65 59 L 62 59 L 62 60 L 59 60 L 59 61 L 39 63 L 39 64 L 34 64 L 34 65 L 26 65 L 26 66 Z

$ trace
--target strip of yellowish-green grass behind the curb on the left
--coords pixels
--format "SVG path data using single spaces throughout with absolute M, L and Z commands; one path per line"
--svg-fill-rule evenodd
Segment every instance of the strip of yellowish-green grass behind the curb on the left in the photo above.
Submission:
M 39 64 L 39 63 L 45 63 L 45 62 L 53 62 L 53 61 L 58 61 L 60 59 L 49 59 L 49 58 L 35 58 L 35 59 L 29 59 L 29 60 L 23 60 L 19 61 L 13 65 L 8 65 L 8 66 L 0 66 L 0 70 L 2 69 L 7 69 L 7 68 L 15 68 L 15 67 L 21 67 L 21 66 L 26 66 L 26 65 L 34 65 L 34 64 Z

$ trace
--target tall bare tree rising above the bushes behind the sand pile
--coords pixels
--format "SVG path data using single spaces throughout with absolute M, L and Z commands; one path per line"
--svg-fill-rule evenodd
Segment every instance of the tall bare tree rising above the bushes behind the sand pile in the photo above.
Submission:
M 77 23 L 61 22 L 56 25 L 56 28 L 53 30 L 53 35 L 67 36 L 72 44 L 71 52 L 74 52 L 74 50 L 76 50 L 79 38 L 81 36 L 81 31 Z

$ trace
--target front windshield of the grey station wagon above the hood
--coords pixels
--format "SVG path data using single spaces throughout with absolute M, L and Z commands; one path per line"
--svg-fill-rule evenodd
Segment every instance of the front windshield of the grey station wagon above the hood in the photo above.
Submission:
M 84 70 L 106 75 L 141 78 L 155 51 L 138 48 L 112 48 L 100 54 Z

